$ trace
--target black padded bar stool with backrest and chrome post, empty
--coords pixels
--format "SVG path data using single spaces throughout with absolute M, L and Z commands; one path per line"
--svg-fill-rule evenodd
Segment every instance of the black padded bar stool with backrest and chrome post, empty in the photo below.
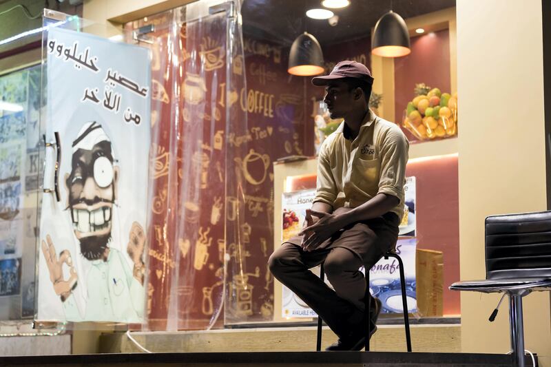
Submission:
M 485 231 L 486 280 L 455 282 L 450 289 L 509 296 L 511 350 L 523 367 L 522 297 L 551 290 L 551 211 L 489 216 Z M 490 322 L 496 314 L 497 308 Z

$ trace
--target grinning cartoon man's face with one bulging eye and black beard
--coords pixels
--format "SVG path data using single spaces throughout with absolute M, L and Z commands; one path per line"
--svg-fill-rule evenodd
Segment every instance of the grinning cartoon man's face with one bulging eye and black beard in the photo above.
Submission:
M 74 235 L 89 260 L 101 257 L 110 240 L 117 176 L 106 140 L 75 151 L 72 171 L 65 175 Z

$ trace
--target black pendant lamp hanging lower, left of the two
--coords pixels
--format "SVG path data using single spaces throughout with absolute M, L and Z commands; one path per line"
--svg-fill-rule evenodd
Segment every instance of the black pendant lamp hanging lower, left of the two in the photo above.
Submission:
M 317 39 L 308 32 L 300 34 L 289 52 L 289 74 L 298 76 L 312 76 L 322 74 L 323 53 Z

